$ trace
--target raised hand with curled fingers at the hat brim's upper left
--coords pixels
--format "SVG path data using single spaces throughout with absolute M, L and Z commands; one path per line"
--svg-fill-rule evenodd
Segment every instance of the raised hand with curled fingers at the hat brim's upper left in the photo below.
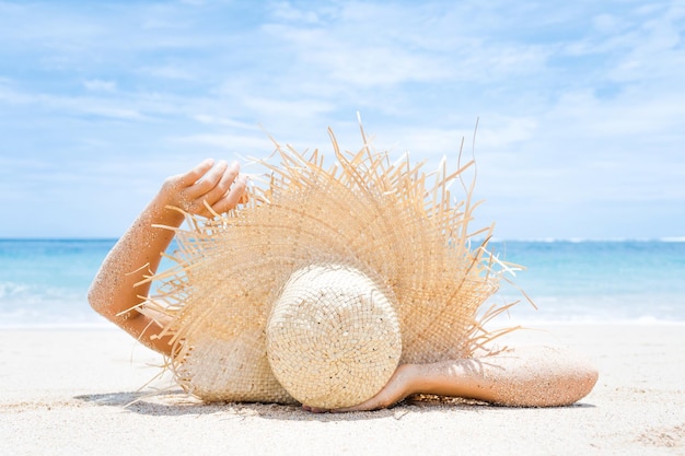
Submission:
M 214 164 L 213 160 L 208 159 L 187 173 L 169 177 L 159 197 L 165 206 L 212 217 L 213 213 L 235 208 L 244 198 L 247 178 L 239 173 L 237 163 L 229 165 L 222 160 Z

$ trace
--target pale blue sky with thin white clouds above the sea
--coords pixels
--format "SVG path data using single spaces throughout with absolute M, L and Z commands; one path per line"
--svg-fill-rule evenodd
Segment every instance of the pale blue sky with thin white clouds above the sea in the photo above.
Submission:
M 503 238 L 685 236 L 685 3 L 2 1 L 0 237 L 116 237 L 207 156 L 456 165 Z M 263 126 L 260 128 L 259 126 Z

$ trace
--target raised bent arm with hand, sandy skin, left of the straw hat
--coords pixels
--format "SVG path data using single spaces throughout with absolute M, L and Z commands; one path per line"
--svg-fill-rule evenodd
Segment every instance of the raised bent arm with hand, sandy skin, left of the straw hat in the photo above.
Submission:
M 239 177 L 240 166 L 206 160 L 185 174 L 169 177 L 159 194 L 138 215 L 133 224 L 112 248 L 89 291 L 91 306 L 147 347 L 171 354 L 169 340 L 151 339 L 159 332 L 156 324 L 135 309 L 149 293 L 150 283 L 135 287 L 144 276 L 155 272 L 161 254 L 174 237 L 184 217 L 177 210 L 210 215 L 205 203 L 217 213 L 225 212 L 240 202 L 246 180 Z

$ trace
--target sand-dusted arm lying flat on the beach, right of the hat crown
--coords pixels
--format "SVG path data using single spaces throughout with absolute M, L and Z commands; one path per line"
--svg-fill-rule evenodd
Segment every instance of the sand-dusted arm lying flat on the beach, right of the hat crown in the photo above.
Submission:
M 597 371 L 592 364 L 569 350 L 508 349 L 483 358 L 403 364 L 376 396 L 340 411 L 390 407 L 414 394 L 463 397 L 514 407 L 566 406 L 585 397 L 596 381 Z

